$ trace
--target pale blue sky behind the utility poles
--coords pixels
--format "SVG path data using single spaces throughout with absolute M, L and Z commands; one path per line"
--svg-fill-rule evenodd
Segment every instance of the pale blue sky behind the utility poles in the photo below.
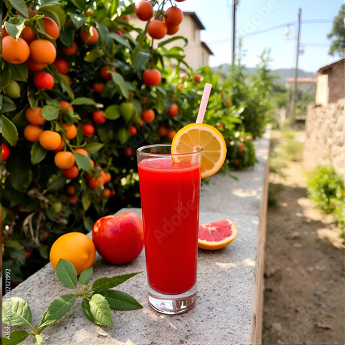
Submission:
M 298 67 L 316 72 L 320 67 L 337 61 L 339 57 L 328 55 L 333 19 L 339 13 L 344 0 L 238 0 L 237 39 L 242 37 L 245 57 L 242 63 L 255 67 L 258 56 L 270 50 L 270 68 L 295 68 L 297 52 L 297 15 L 302 8 L 302 24 Z M 136 1 L 137 2 L 137 1 Z M 186 0 L 177 3 L 184 11 L 196 12 L 206 30 L 201 30 L 201 41 L 213 51 L 210 66 L 231 63 L 233 0 Z M 315 21 L 324 21 L 315 23 Z M 284 32 L 291 23 L 290 36 Z M 268 29 L 259 33 L 259 30 Z M 236 39 L 236 41 L 237 41 Z

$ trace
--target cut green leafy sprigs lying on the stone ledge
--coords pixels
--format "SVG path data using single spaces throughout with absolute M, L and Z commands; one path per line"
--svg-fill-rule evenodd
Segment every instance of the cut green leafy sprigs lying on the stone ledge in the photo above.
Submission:
M 70 311 L 75 299 L 82 297 L 81 304 L 84 313 L 94 324 L 114 327 L 111 309 L 117 311 L 130 311 L 142 308 L 132 296 L 118 290 L 112 290 L 115 286 L 126 282 L 130 277 L 138 273 L 115 275 L 114 277 L 101 277 L 92 284 L 88 284 L 92 277 L 93 268 L 87 268 L 79 276 L 81 290 L 77 290 L 77 272 L 75 267 L 65 259 L 60 259 L 56 267 L 56 275 L 59 282 L 66 288 L 75 290 L 75 293 L 57 297 L 50 303 L 43 313 L 38 326 L 32 326 L 32 313 L 29 304 L 20 297 L 4 296 L 2 306 L 2 322 L 5 324 L 5 336 L 2 344 L 19 344 L 29 335 L 34 337 L 34 344 L 41 344 L 43 337 L 41 332 L 48 326 L 55 324 Z M 12 326 L 26 326 L 31 328 L 28 333 L 24 330 L 7 331 Z

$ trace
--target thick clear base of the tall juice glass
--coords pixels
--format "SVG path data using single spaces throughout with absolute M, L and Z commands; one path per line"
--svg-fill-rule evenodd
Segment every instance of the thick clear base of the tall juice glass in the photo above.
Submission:
M 150 306 L 159 311 L 159 313 L 167 315 L 178 315 L 186 313 L 193 308 L 197 301 L 197 284 L 185 293 L 179 295 L 165 295 L 164 293 L 157 293 L 148 286 L 148 302 Z

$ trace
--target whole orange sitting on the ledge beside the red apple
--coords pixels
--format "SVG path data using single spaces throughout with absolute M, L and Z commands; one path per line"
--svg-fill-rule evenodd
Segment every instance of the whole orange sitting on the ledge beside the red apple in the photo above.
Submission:
M 60 236 L 50 249 L 49 259 L 55 269 L 59 259 L 66 259 L 75 266 L 77 275 L 92 266 L 96 257 L 96 248 L 90 237 L 83 233 L 67 233 Z

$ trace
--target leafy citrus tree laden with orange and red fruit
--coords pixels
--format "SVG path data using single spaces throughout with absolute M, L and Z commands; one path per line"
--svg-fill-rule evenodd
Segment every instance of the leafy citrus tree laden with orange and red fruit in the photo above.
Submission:
M 174 1 L 6 0 L 1 10 L 3 266 L 13 282 L 48 262 L 59 235 L 140 205 L 135 149 L 195 121 L 206 81 L 204 121 L 226 138 L 224 171 L 255 164 L 224 81 L 166 48 L 187 43 Z

